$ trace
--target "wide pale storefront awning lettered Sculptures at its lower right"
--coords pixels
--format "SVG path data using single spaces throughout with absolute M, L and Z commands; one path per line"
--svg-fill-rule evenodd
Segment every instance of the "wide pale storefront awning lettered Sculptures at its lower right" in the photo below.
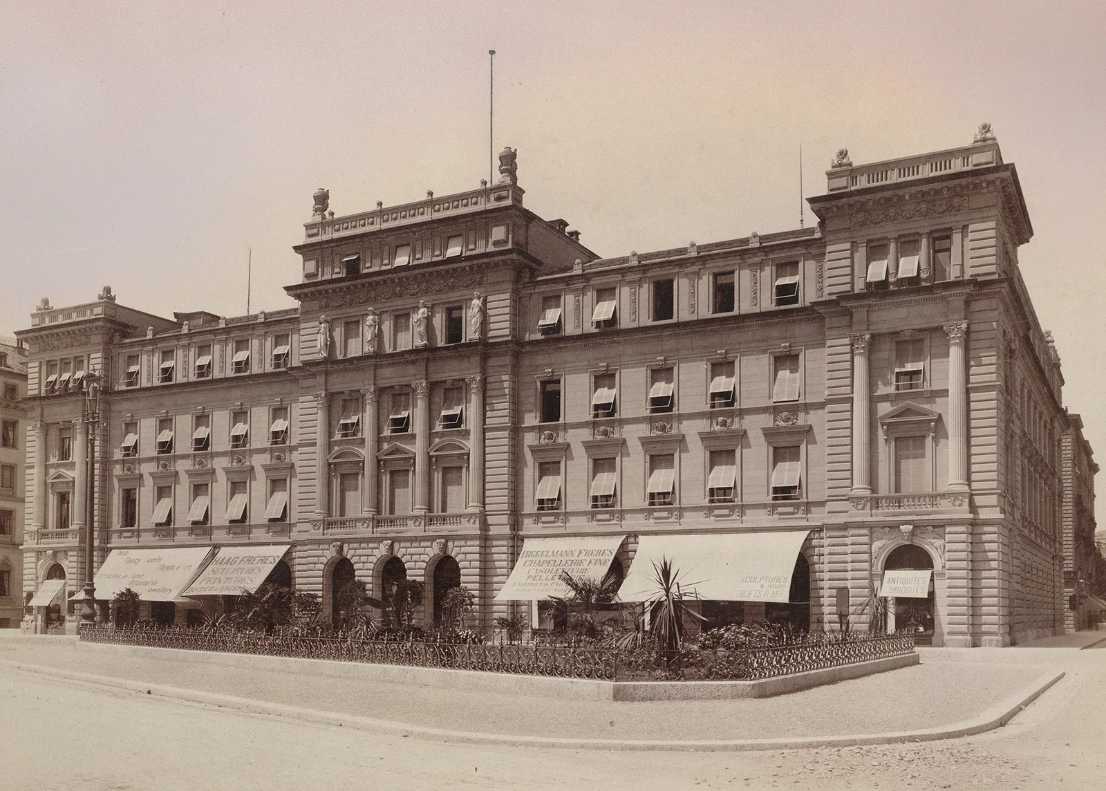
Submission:
M 721 535 L 643 535 L 618 591 L 624 602 L 657 593 L 654 564 L 671 562 L 685 595 L 723 602 L 783 602 L 807 530 Z

